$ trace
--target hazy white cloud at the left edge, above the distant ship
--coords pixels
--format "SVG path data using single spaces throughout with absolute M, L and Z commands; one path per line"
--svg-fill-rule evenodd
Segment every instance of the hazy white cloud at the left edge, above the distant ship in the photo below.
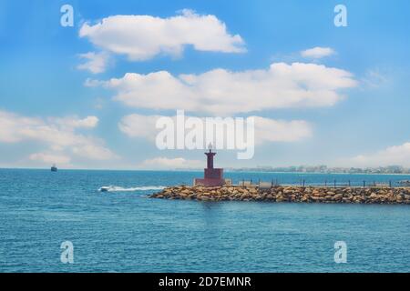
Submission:
M 0 111 L 0 143 L 36 141 L 47 147 L 46 153 L 36 153 L 29 158 L 48 163 L 54 158 L 64 164 L 70 156 L 84 156 L 93 160 L 108 160 L 117 157 L 104 143 L 93 136 L 78 134 L 78 128 L 93 128 L 96 116 L 84 119 L 76 117 L 46 119 L 26 117 Z

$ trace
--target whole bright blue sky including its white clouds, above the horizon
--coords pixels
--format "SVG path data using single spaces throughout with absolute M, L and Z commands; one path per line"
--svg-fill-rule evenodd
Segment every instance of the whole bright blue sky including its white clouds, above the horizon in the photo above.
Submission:
M 336 5 L 347 26 L 334 25 Z M 408 11 L 405 0 L 2 1 L 0 167 L 203 167 L 203 149 L 155 143 L 155 121 L 177 110 L 254 116 L 252 158 L 220 150 L 217 166 L 410 166 Z

